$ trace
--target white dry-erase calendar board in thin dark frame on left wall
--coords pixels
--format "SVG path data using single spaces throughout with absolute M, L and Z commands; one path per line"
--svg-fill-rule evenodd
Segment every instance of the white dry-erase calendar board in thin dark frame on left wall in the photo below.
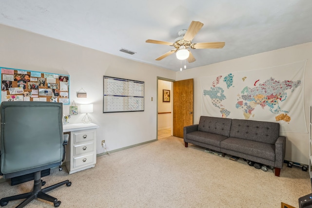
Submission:
M 103 113 L 144 111 L 144 82 L 104 76 Z

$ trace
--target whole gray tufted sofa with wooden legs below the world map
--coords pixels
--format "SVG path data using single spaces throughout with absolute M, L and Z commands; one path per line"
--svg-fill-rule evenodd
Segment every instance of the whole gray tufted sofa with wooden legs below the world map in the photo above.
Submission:
M 272 166 L 276 176 L 283 167 L 286 137 L 279 135 L 279 123 L 200 116 L 183 131 L 185 147 L 191 143 Z

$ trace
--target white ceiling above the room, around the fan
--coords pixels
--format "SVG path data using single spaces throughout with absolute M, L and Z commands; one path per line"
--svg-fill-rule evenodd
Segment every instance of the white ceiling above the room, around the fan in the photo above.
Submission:
M 225 46 L 191 49 L 188 69 L 312 42 L 311 0 L 0 0 L 0 24 L 174 71 L 175 54 L 155 60 L 174 47 L 145 40 L 174 42 L 192 20 L 192 42 Z

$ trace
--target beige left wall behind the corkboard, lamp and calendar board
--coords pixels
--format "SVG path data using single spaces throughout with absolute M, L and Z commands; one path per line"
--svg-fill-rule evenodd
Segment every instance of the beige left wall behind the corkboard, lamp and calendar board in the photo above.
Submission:
M 99 125 L 98 153 L 104 151 L 103 139 L 112 151 L 157 138 L 157 103 L 150 98 L 157 97 L 157 77 L 175 79 L 175 72 L 4 25 L 0 31 L 1 67 L 68 74 L 70 101 L 94 104 L 94 113 L 89 114 Z M 103 76 L 144 81 L 144 112 L 103 113 Z M 87 98 L 77 97 L 81 88 Z M 69 113 L 69 105 L 63 109 Z M 70 123 L 81 122 L 82 117 L 72 116 Z

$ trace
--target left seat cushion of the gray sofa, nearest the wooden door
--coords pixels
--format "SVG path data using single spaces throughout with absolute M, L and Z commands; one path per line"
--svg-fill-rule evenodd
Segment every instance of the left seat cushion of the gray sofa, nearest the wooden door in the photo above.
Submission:
M 193 141 L 209 144 L 215 147 L 220 147 L 220 142 L 228 137 L 210 132 L 195 131 L 187 133 L 186 138 Z

